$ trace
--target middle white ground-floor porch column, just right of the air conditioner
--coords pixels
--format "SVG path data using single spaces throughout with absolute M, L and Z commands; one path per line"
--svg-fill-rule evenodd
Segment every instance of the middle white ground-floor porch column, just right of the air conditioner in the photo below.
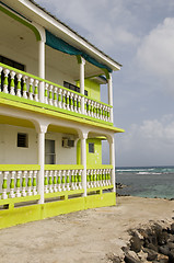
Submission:
M 82 175 L 83 196 L 86 196 L 86 133 L 81 136 L 81 164 L 84 167 Z

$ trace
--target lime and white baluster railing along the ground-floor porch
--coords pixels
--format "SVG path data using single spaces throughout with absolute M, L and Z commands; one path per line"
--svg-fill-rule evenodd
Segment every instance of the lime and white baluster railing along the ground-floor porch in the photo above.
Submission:
M 15 203 L 38 201 L 37 164 L 0 164 L 0 206 Z M 88 167 L 88 193 L 113 188 L 112 165 Z M 44 197 L 45 199 L 81 195 L 83 165 L 45 164 Z

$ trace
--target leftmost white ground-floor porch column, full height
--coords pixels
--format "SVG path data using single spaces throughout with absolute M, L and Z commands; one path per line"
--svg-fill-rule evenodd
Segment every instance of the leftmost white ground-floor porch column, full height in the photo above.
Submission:
M 40 199 L 38 204 L 44 204 L 44 165 L 45 165 L 45 134 L 47 125 L 40 125 L 38 128 L 38 164 L 40 170 L 38 172 L 38 194 Z

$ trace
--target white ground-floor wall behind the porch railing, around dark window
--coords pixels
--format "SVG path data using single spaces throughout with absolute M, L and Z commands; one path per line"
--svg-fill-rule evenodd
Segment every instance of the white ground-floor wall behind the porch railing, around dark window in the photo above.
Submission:
M 18 147 L 18 133 L 28 135 L 28 148 Z M 77 146 L 63 148 L 65 134 L 48 133 L 46 139 L 55 140 L 56 164 L 77 164 Z M 0 164 L 37 164 L 37 134 L 35 129 L 12 125 L 0 125 Z

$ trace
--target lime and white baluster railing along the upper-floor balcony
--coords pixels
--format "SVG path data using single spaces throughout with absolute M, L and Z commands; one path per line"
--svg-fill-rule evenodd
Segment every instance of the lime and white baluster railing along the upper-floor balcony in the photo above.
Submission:
M 4 64 L 0 64 L 0 93 L 40 102 L 51 110 L 112 123 L 111 105 Z

